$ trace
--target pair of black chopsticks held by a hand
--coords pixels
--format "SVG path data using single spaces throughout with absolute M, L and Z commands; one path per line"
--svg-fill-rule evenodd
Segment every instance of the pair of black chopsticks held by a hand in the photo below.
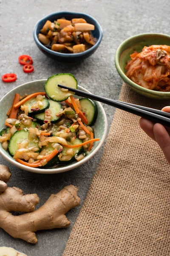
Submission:
M 159 122 L 162 125 L 170 127 L 170 113 L 166 113 L 164 111 L 160 111 L 153 108 L 147 108 L 143 106 L 134 105 L 131 103 L 121 102 L 118 100 L 107 99 L 101 96 L 96 96 L 91 93 L 86 93 L 81 90 L 73 89 L 71 87 L 67 87 L 61 84 L 58 84 L 58 87 L 68 89 L 69 91 L 75 93 L 77 96 L 81 96 L 88 99 L 93 99 L 95 101 L 99 101 L 108 105 L 111 105 L 115 108 L 122 109 L 129 113 L 135 114 L 137 116 L 144 117 L 153 122 Z

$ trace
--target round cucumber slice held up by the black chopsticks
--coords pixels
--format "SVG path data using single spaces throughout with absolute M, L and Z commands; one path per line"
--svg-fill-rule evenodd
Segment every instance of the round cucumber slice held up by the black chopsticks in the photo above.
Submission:
M 77 80 L 72 74 L 64 73 L 50 76 L 44 84 L 44 90 L 50 99 L 57 102 L 62 102 L 68 99 L 70 95 L 74 94 L 69 91 L 62 91 L 61 88 L 58 87 L 58 84 L 77 89 Z

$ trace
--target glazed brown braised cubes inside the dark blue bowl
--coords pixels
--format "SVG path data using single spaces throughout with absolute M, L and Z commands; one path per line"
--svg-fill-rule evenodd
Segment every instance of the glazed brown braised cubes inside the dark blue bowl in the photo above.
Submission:
M 47 20 L 38 38 L 42 44 L 55 52 L 79 53 L 91 48 L 96 38 L 91 34 L 94 25 L 85 19 L 66 20 L 64 17 L 51 22 Z

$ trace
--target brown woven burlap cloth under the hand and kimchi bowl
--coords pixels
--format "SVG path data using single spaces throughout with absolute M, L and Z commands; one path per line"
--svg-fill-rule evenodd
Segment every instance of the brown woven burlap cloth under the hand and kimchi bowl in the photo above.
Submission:
M 125 84 L 120 100 L 158 109 L 170 104 Z M 170 255 L 170 165 L 139 117 L 117 110 L 63 256 L 131 255 Z

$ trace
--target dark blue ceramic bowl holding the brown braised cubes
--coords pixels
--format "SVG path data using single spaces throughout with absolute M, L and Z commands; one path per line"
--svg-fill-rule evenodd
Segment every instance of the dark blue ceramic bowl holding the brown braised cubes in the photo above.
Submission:
M 90 49 L 86 50 L 85 52 L 73 53 L 73 54 L 54 52 L 51 49 L 48 49 L 47 47 L 45 47 L 38 39 L 38 34 L 40 33 L 40 30 L 42 29 L 42 27 L 44 26 L 47 20 L 50 20 L 53 22 L 54 20 L 57 20 L 61 17 L 65 17 L 67 20 L 71 20 L 73 18 L 83 18 L 88 23 L 93 24 L 95 26 L 95 29 L 94 31 L 92 31 L 92 35 L 95 38 L 97 38 L 96 44 L 92 46 Z M 55 12 L 45 16 L 44 18 L 42 18 L 37 22 L 37 24 L 34 27 L 33 36 L 37 44 L 37 47 L 48 57 L 53 58 L 57 61 L 62 61 L 62 62 L 77 62 L 85 58 L 88 58 L 90 55 L 92 55 L 96 51 L 96 49 L 99 47 L 100 42 L 102 41 L 103 31 L 99 22 L 93 17 L 91 17 L 90 15 L 84 14 L 82 12 Z

